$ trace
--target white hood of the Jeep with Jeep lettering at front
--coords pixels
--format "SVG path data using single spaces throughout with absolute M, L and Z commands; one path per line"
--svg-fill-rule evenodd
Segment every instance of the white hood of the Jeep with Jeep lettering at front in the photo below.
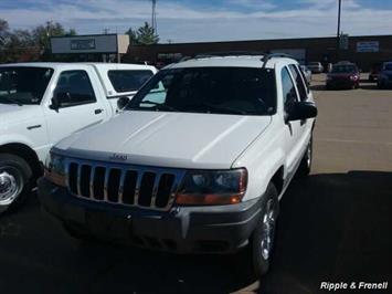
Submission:
M 83 159 L 229 169 L 271 119 L 271 116 L 125 112 L 63 139 L 55 148 Z

